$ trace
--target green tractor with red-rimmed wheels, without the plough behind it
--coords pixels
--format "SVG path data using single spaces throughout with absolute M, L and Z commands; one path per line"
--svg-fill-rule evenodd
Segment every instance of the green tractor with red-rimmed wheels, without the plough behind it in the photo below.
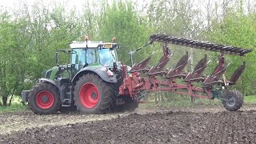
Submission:
M 85 114 L 104 114 L 122 108 L 125 103 L 138 104 L 130 97 L 120 97 L 122 68 L 116 43 L 72 42 L 70 50 L 58 50 L 56 63 L 31 90 L 22 91 L 22 102 L 28 102 L 35 114 L 54 114 L 76 107 Z M 70 54 L 70 64 L 58 65 L 58 53 Z

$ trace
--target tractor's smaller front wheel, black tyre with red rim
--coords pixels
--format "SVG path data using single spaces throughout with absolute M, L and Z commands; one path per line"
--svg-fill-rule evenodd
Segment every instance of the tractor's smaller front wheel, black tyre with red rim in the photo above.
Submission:
M 61 106 L 57 87 L 48 82 L 38 83 L 33 87 L 28 103 L 34 114 L 55 114 Z

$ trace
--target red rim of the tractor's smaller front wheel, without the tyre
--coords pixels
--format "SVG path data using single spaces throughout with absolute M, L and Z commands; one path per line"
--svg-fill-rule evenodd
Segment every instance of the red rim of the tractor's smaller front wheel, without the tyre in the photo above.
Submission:
M 39 108 L 49 109 L 54 105 L 54 94 L 48 90 L 43 90 L 37 94 L 35 102 Z

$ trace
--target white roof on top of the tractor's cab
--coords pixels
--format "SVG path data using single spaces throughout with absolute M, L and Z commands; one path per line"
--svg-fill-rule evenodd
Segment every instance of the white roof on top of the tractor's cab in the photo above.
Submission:
M 87 41 L 87 46 L 89 48 L 98 48 L 98 46 L 104 46 L 104 48 L 112 48 L 112 47 L 105 47 L 106 45 L 111 45 L 114 46 L 116 45 L 116 43 L 112 43 L 112 42 L 92 42 L 92 41 Z M 73 41 L 70 44 L 70 48 L 71 49 L 75 49 L 75 48 L 86 48 L 86 42 L 77 42 L 77 41 Z

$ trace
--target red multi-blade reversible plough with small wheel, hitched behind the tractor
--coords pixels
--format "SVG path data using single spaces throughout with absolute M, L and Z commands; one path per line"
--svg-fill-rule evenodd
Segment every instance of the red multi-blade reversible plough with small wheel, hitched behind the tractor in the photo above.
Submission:
M 224 56 L 225 54 L 244 56 L 252 50 L 196 41 L 187 38 L 178 38 L 166 34 L 151 35 L 149 44 L 152 44 L 153 42 L 163 43 L 162 58 L 156 66 L 148 67 L 147 64 L 152 57 L 152 55 L 150 55 L 150 57 L 146 58 L 144 61 L 134 64 L 128 71 L 130 75 L 127 75 L 126 73 L 127 67 L 123 66 L 124 80 L 122 86 L 119 87 L 119 93 L 121 95 L 130 95 L 135 101 L 139 101 L 147 92 L 166 90 L 175 94 L 188 95 L 190 97 L 208 99 L 218 98 L 222 100 L 226 109 L 231 111 L 238 110 L 242 106 L 242 94 L 238 90 L 229 90 L 228 86 L 238 82 L 238 78 L 241 76 L 243 70 L 245 70 L 246 62 L 243 62 L 241 66 L 238 66 L 231 78 L 227 80 L 224 73 L 230 64 L 226 64 Z M 220 55 L 218 56 L 218 65 L 215 67 L 212 74 L 203 76 L 202 73 L 206 70 L 206 67 L 210 62 L 207 60 L 207 55 L 205 55 L 194 67 L 194 71 L 183 72 L 190 60 L 190 56 L 188 52 L 186 52 L 173 69 L 166 70 L 165 66 L 172 56 L 168 47 L 170 44 L 220 52 Z M 141 50 L 141 48 L 138 50 Z M 146 74 L 148 78 L 142 78 L 142 73 Z M 162 79 L 159 79 L 158 76 L 162 76 Z M 177 81 L 177 79 L 182 79 L 182 81 Z M 195 82 L 202 82 L 202 87 L 194 86 Z

